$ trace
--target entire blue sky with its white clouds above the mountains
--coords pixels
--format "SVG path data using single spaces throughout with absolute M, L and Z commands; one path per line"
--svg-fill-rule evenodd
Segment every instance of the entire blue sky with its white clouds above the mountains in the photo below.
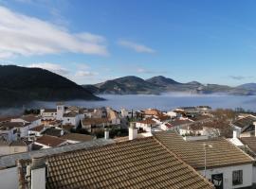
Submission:
M 79 84 L 256 82 L 254 0 L 0 0 L 0 64 Z

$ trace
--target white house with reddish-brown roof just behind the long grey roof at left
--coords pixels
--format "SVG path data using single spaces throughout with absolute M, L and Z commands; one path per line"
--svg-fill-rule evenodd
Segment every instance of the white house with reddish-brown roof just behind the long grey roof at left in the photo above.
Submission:
M 42 146 L 42 148 L 56 147 L 68 145 L 67 141 L 55 136 L 43 135 L 36 138 L 35 145 Z

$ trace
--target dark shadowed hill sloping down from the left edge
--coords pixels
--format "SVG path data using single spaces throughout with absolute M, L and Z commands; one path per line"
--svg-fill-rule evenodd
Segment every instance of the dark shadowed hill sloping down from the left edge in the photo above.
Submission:
M 32 100 L 99 100 L 82 86 L 41 68 L 0 65 L 0 107 Z

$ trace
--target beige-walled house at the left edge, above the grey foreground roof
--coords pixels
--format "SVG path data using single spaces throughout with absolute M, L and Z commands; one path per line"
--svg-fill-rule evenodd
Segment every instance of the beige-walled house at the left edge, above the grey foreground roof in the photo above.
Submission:
M 0 140 L 0 156 L 29 151 L 29 145 L 22 140 Z

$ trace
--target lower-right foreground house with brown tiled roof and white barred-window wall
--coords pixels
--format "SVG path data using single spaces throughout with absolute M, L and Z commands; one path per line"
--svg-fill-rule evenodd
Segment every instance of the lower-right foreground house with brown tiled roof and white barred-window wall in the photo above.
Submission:
M 185 141 L 174 131 L 155 132 L 154 136 L 159 143 L 211 180 L 217 189 L 252 185 L 254 160 L 227 139 Z

